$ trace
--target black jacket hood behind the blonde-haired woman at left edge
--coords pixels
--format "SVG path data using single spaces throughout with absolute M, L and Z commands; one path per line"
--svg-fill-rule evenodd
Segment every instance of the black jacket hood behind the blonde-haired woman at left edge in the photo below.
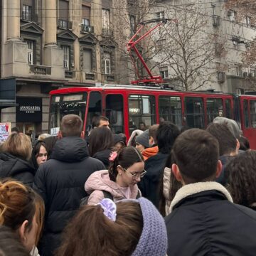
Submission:
M 16 176 L 28 171 L 35 174 L 33 167 L 23 159 L 9 153 L 0 153 L 0 177 Z

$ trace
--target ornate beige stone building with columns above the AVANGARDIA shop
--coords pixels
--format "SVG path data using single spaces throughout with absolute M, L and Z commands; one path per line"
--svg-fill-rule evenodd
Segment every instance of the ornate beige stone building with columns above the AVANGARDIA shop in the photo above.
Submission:
M 16 85 L 16 106 L 1 110 L 1 122 L 34 139 L 48 132 L 50 90 L 129 83 L 117 28 L 133 2 L 122 1 L 121 14 L 118 0 L 1 0 L 1 81 Z

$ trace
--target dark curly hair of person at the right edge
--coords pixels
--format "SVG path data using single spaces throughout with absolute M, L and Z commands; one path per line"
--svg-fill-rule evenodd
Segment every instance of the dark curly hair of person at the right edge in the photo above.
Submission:
M 256 151 L 246 151 L 235 156 L 225 167 L 228 190 L 234 203 L 250 207 L 256 202 Z

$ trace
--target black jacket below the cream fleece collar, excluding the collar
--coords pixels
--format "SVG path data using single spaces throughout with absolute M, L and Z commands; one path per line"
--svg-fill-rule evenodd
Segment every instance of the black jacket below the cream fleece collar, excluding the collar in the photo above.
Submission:
M 169 256 L 256 255 L 255 211 L 231 203 L 220 191 L 186 196 L 165 220 Z

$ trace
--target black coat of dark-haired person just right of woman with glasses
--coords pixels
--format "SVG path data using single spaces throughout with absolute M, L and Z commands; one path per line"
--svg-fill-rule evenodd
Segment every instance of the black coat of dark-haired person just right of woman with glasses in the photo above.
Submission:
M 138 186 L 142 196 L 149 199 L 156 208 L 159 208 L 160 181 L 164 176 L 164 167 L 169 154 L 157 153 L 145 161 L 146 175 L 139 182 Z

